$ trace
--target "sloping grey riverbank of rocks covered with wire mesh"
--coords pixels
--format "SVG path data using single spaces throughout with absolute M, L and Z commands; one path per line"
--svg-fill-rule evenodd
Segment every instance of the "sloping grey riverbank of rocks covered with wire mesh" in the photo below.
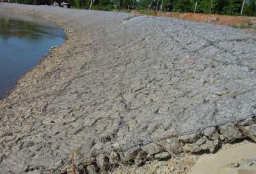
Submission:
M 255 35 L 129 13 L 0 11 L 52 20 L 68 38 L 0 102 L 3 173 L 64 172 L 74 150 L 81 170 L 109 170 L 156 158 L 149 137 L 173 153 L 212 151 L 241 138 L 234 121 L 255 127 Z

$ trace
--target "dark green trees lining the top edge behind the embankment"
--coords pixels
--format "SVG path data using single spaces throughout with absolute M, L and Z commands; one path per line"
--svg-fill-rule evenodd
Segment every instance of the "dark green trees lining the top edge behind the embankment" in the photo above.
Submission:
M 11 0 L 24 4 L 52 4 L 54 0 Z M 61 0 L 58 0 L 60 3 Z M 243 0 L 66 0 L 73 8 L 93 10 L 162 10 L 168 12 L 218 13 L 240 15 Z M 163 4 L 163 6 L 162 6 Z M 246 0 L 243 15 L 256 16 L 256 0 Z

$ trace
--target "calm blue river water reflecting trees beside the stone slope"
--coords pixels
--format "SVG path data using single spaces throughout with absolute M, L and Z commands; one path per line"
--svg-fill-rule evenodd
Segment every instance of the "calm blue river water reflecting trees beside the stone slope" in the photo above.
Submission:
M 46 20 L 0 12 L 0 100 L 49 49 L 65 41 L 65 32 Z

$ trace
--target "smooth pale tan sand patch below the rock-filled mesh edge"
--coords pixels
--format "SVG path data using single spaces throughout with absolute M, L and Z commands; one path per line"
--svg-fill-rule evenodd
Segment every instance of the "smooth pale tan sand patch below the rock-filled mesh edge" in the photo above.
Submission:
M 226 145 L 228 146 L 228 145 Z M 216 154 L 201 155 L 191 169 L 191 174 L 251 174 L 256 173 L 256 165 L 234 168 L 230 164 L 243 159 L 256 158 L 256 144 L 246 143 L 220 150 Z

